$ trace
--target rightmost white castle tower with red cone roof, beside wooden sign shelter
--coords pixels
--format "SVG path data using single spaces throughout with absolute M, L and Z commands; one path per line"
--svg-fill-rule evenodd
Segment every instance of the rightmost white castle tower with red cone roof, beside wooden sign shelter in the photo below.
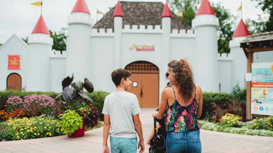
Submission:
M 230 53 L 233 55 L 231 69 L 232 88 L 237 84 L 239 84 L 241 89 L 246 88 L 245 73 L 247 73 L 247 58 L 244 51 L 240 48 L 240 42 L 243 41 L 248 35 L 250 35 L 250 33 L 244 24 L 244 21 L 241 19 L 232 36 L 232 40 L 229 41 Z

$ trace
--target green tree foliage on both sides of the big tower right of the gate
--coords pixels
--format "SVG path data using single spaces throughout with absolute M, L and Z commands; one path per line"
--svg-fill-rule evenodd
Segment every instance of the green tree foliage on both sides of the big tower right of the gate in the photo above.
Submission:
M 184 22 L 191 26 L 191 21 L 197 12 L 197 5 L 200 0 L 170 0 L 170 9 L 174 12 L 180 12 L 184 10 Z M 218 40 L 218 52 L 229 53 L 229 41 L 232 39 L 233 27 L 235 27 L 234 15 L 231 15 L 228 9 L 225 9 L 221 3 L 211 3 L 214 9 L 215 15 L 219 18 L 219 30 L 221 31 Z

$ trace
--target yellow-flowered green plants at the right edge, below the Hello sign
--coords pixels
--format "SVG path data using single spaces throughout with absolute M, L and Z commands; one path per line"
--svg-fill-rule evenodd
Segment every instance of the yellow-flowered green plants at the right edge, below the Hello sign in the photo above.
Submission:
M 264 129 L 273 131 L 273 116 L 253 119 L 252 129 Z

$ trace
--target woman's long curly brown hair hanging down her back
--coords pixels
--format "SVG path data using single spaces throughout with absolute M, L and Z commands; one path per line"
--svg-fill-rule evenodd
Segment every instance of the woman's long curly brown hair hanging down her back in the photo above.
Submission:
M 178 86 L 178 92 L 184 99 L 184 103 L 190 100 L 195 90 L 194 76 L 190 67 L 190 63 L 186 58 L 180 60 L 172 60 L 168 63 L 170 71 L 174 76 L 174 85 Z

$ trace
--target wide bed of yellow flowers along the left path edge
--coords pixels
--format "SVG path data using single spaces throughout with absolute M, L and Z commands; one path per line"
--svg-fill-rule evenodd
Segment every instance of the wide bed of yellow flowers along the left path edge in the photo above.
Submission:
M 2 125 L 1 125 L 2 124 Z M 47 117 L 14 118 L 2 122 L 0 141 L 45 138 L 62 135 L 60 123 L 57 119 Z

